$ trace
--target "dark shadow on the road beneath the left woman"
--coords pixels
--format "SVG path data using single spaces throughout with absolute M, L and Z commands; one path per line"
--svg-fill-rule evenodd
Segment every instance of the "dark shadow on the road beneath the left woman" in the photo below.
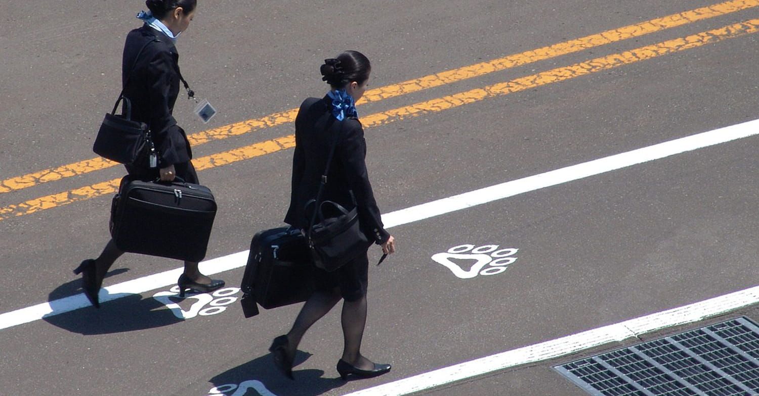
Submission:
M 106 275 L 118 275 L 128 269 L 118 269 Z M 66 282 L 55 288 L 48 295 L 52 307 L 43 320 L 53 326 L 84 335 L 131 332 L 152 329 L 179 323 L 180 319 L 172 310 L 155 298 L 143 298 L 141 295 L 118 295 L 112 301 L 102 302 L 100 309 L 84 307 L 71 310 L 71 302 L 65 298 L 82 292 L 81 278 Z M 67 310 L 70 310 L 66 312 Z

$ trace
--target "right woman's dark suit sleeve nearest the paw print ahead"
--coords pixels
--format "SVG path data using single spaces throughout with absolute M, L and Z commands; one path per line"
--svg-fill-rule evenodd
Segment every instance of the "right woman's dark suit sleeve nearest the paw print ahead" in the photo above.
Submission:
M 367 172 L 367 142 L 364 139 L 364 129 L 356 120 L 345 121 L 347 131 L 345 139 L 335 148 L 335 154 L 342 161 L 348 186 L 356 198 L 358 216 L 365 232 L 370 232 L 374 242 L 382 245 L 390 238 L 385 230 L 382 217 L 374 199 L 372 186 Z

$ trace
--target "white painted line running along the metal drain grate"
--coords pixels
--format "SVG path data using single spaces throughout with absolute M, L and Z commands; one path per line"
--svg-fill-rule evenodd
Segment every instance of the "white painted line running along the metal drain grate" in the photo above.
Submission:
M 556 338 L 555 340 L 541 342 L 540 344 L 436 369 L 429 373 L 355 391 L 345 396 L 402 396 L 411 394 L 461 381 L 462 379 L 493 373 L 509 367 L 562 357 L 584 349 L 605 345 L 609 342 L 624 341 L 625 339 L 666 327 L 698 322 L 707 317 L 747 307 L 757 302 L 759 302 L 759 286 L 754 286 L 740 292 L 685 305 L 685 307 L 665 310 L 613 325 L 603 326 L 598 329 L 587 330 L 575 335 L 568 335 Z

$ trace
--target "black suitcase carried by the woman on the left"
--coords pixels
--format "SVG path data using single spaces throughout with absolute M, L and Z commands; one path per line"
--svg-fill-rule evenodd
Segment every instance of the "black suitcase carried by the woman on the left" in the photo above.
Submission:
M 122 251 L 200 261 L 216 201 L 205 186 L 125 176 L 111 207 L 111 236 Z

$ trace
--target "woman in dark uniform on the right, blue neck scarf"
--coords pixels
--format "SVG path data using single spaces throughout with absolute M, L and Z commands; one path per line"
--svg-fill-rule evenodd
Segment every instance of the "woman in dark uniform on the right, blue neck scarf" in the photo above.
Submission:
M 300 229 L 307 226 L 304 206 L 317 195 L 329 148 L 336 141 L 324 200 L 335 201 L 348 210 L 357 207 L 364 234 L 382 245 L 383 253 L 392 254 L 395 239 L 383 228 L 374 200 L 364 161 L 367 154 L 364 129 L 354 107 L 354 101 L 364 95 L 370 71 L 369 59 L 357 51 L 343 52 L 322 65 L 323 80 L 332 89 L 322 99 L 306 99 L 295 119 L 292 192 L 285 223 Z M 362 254 L 335 272 L 315 270 L 317 292 L 306 301 L 290 332 L 275 338 L 269 348 L 290 379 L 295 351 L 304 333 L 341 299 L 345 348 L 337 364 L 340 376 L 368 378 L 390 370 L 389 364 L 373 363 L 360 351 L 367 320 L 368 266 L 367 254 Z

